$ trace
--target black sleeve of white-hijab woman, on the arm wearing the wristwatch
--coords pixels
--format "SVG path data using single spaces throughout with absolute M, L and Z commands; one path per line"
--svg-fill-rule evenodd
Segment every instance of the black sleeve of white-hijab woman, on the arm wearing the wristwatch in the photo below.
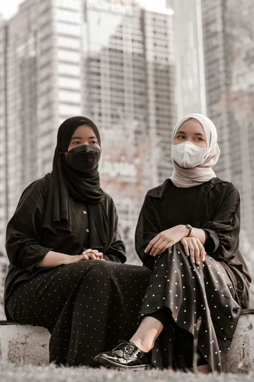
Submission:
M 229 183 L 213 221 L 207 221 L 202 227 L 214 242 L 209 253 L 219 261 L 229 261 L 238 245 L 240 233 L 240 196 L 237 188 Z

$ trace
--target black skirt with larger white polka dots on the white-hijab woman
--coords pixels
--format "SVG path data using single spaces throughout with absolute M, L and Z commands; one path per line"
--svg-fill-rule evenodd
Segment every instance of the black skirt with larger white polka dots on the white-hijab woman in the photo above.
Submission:
M 197 339 L 198 349 L 212 370 L 221 372 L 239 319 L 240 305 L 236 300 L 235 285 L 222 263 L 206 255 L 200 265 L 192 264 L 178 242 L 156 258 L 139 320 L 168 307 L 174 322 L 195 336 L 193 339 Z M 199 318 L 201 324 L 196 330 Z M 168 321 L 155 342 L 152 363 L 159 368 L 172 364 L 184 368 L 184 357 L 174 359 L 178 339 L 172 320 Z

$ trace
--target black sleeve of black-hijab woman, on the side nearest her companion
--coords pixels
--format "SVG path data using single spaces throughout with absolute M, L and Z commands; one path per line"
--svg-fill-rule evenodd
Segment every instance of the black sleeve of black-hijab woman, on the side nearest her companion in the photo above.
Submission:
M 126 262 L 126 247 L 125 243 L 121 238 L 121 234 L 118 228 L 118 215 L 115 207 L 115 203 L 110 198 L 110 210 L 111 210 L 111 217 L 110 221 L 113 222 L 113 240 L 107 249 L 106 253 L 104 254 L 103 258 L 105 260 L 109 261 L 115 261 L 115 262 Z

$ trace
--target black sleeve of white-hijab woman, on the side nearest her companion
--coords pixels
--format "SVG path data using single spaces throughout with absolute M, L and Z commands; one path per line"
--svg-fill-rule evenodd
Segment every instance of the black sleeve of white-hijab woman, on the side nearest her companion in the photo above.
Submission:
M 136 252 L 141 261 L 150 270 L 156 259 L 150 256 L 150 251 L 148 253 L 144 251 L 149 242 L 163 231 L 156 201 L 157 198 L 150 197 L 149 195 L 145 196 L 135 232 Z

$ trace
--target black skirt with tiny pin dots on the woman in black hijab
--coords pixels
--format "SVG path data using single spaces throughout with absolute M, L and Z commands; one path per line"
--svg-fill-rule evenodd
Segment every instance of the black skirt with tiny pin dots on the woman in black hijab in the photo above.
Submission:
M 49 362 L 98 367 L 98 353 L 135 332 L 150 273 L 102 260 L 45 268 L 14 285 L 5 309 L 13 320 L 48 328 Z

